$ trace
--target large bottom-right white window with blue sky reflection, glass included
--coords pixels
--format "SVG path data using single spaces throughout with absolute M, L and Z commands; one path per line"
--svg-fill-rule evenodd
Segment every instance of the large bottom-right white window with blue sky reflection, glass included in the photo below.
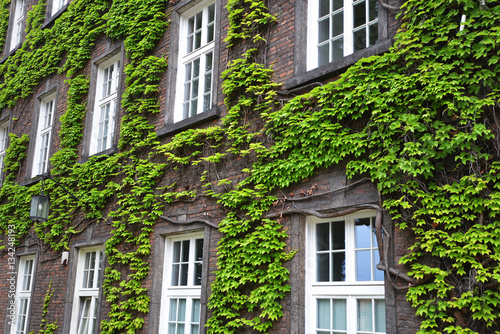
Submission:
M 329 221 L 308 219 L 307 333 L 385 333 L 374 216 L 365 211 Z

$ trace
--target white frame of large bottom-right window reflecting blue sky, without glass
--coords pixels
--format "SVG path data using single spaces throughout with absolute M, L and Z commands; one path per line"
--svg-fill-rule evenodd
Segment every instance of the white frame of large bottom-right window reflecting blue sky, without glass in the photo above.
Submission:
M 370 218 L 374 224 L 376 212 L 360 211 L 352 215 L 338 217 L 334 219 L 319 219 L 317 217 L 308 217 L 306 224 L 306 333 L 347 333 L 347 334 L 379 334 L 385 332 L 376 332 L 374 312 L 372 307 L 372 325 L 371 331 L 358 331 L 358 301 L 371 300 L 372 306 L 375 301 L 385 299 L 385 288 L 383 280 L 374 280 L 374 270 L 378 263 L 378 250 L 374 244 L 373 237 L 371 246 L 368 248 L 356 248 L 355 245 L 355 220 Z M 345 224 L 345 280 L 344 281 L 317 281 L 317 260 L 316 255 L 321 253 L 316 249 L 316 226 L 319 223 L 344 221 Z M 374 226 L 374 225 L 372 225 Z M 356 279 L 356 250 L 371 251 L 371 277 L 370 280 L 358 281 Z M 326 251 L 334 253 L 335 251 Z M 342 252 L 342 250 L 340 250 Z M 331 261 L 331 257 L 330 260 Z M 331 262 L 329 262 L 331 263 Z M 331 267 L 330 267 L 331 270 Z M 380 272 L 379 272 L 380 273 Z M 331 275 L 331 274 L 330 274 Z M 330 278 L 331 279 L 331 278 Z M 318 319 L 318 300 L 343 300 L 346 307 L 345 330 L 321 329 L 317 328 Z M 330 305 L 332 302 L 330 302 Z M 380 302 L 377 302 L 380 303 Z M 385 312 L 385 308 L 384 308 Z M 331 315 L 330 315 L 331 316 Z M 385 326 L 385 323 L 383 324 Z

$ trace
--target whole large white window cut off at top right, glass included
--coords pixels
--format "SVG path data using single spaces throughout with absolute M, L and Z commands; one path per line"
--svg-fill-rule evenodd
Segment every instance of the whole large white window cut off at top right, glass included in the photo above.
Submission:
M 377 0 L 309 1 L 308 70 L 378 42 Z

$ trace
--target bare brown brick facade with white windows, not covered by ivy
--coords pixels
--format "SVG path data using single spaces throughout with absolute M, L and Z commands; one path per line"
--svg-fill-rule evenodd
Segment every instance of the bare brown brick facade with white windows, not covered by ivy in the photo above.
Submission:
M 78 3 L 79 0 L 48 0 L 45 21 L 37 29 L 53 29 Z M 303 0 L 268 1 L 269 11 L 278 21 L 267 28 L 267 44 L 260 52 L 265 52 L 261 59 L 266 65 L 273 66 L 272 79 L 282 83 L 282 101 L 336 80 L 361 58 L 386 52 L 399 27 L 396 11 L 390 7 L 399 3 L 382 3 L 385 4 L 368 0 L 345 0 L 340 4 L 335 0 L 314 4 Z M 37 0 L 12 0 L 7 6 L 10 19 L 2 64 L 13 66 L 8 59 L 26 41 L 26 19 L 37 4 Z M 155 126 L 156 139 L 162 144 L 189 129 L 220 126 L 227 114 L 222 72 L 229 61 L 240 57 L 249 46 L 243 42 L 228 47 L 226 5 L 225 0 L 182 0 L 165 5 L 171 23 L 151 54 L 168 58 L 169 65 L 159 81 L 159 113 L 148 116 Z M 318 12 L 320 15 L 315 14 Z M 340 16 L 343 25 L 338 24 Z M 89 51 L 90 61 L 78 72 L 90 82 L 83 99 L 83 140 L 77 147 L 77 163 L 81 165 L 95 157 L 106 161 L 121 151 L 121 120 L 127 113 L 122 103 L 127 86 L 124 68 L 131 63 L 124 40 L 102 32 L 90 43 Z M 63 56 L 56 67 L 62 67 L 65 59 Z M 14 74 L 23 75 L 15 71 Z M 50 157 L 61 149 L 61 116 L 68 108 L 67 79 L 64 71 L 52 71 L 40 78 L 29 94 L 2 110 L 0 129 L 5 127 L 17 136 L 30 136 L 27 156 L 21 160 L 15 178 L 17 184 L 35 187 L 41 175 L 53 168 Z M 258 127 L 258 116 L 249 117 Z M 242 170 L 249 164 L 251 161 L 246 158 L 234 157 L 224 160 L 212 172 L 238 184 L 245 178 Z M 202 194 L 202 173 L 203 168 L 197 166 L 166 168 L 158 187 L 175 184 L 179 191 Z M 224 186 L 213 183 L 213 188 L 223 191 Z M 280 198 L 279 203 L 266 214 L 271 218 L 282 215 L 281 222 L 289 234 L 286 249 L 297 253 L 285 263 L 291 291 L 280 302 L 283 317 L 273 323 L 271 333 L 338 330 L 406 334 L 418 329 L 405 290 L 394 289 L 391 280 L 396 285 L 405 282 L 384 277 L 383 271 L 376 269 L 379 254 L 372 230 L 379 197 L 369 181 L 350 180 L 345 166 L 336 165 L 273 195 Z M 56 192 L 51 194 L 54 196 Z M 42 319 L 47 323 L 57 321 L 55 333 L 98 332 L 92 327 L 107 319 L 111 311 L 102 289 L 104 268 L 109 266 L 103 251 L 115 229 L 108 213 L 117 206 L 116 196 L 110 196 L 100 208 L 104 218 L 88 219 L 85 212 L 76 211 L 72 219 L 80 233 L 68 239 L 67 249 L 54 251 L 40 239 L 39 232 L 31 229 L 18 240 L 12 255 L 8 236 L 2 238 L 7 246 L 1 251 L 3 332 L 37 332 Z M 356 210 L 349 211 L 350 208 Z M 203 325 L 212 313 L 207 304 L 216 279 L 218 242 L 222 236 L 216 226 L 226 217 L 227 210 L 215 199 L 204 196 L 174 201 L 163 210 L 163 218 L 156 221 L 150 233 L 151 254 L 147 262 L 151 269 L 143 280 L 150 304 L 149 313 L 141 316 L 144 325 L 139 332 L 204 333 Z M 389 245 L 385 245 L 389 249 L 386 265 L 404 271 L 397 263 L 411 245 L 410 232 L 399 231 L 387 214 L 383 215 L 383 225 L 392 236 L 387 241 Z M 123 250 L 128 246 L 122 247 Z M 62 263 L 65 252 L 68 260 Z M 8 259 L 12 257 L 14 269 L 9 267 Z M 9 281 L 13 275 L 16 280 Z M 13 295 L 4 293 L 12 282 Z M 44 314 L 49 283 L 54 293 Z M 15 303 L 14 313 L 9 309 L 11 301 Z M 244 328 L 242 333 L 252 332 Z

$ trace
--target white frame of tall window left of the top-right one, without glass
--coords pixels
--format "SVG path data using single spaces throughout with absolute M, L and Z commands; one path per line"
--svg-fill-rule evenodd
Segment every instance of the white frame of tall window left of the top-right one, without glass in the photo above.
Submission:
M 209 11 L 209 8 L 213 11 Z M 190 33 L 189 22 L 191 19 L 197 20 L 199 14 L 202 17 L 201 29 L 196 30 L 195 28 L 195 32 Z M 209 15 L 213 16 L 210 18 L 211 21 L 209 21 Z M 216 6 L 213 1 L 205 1 L 181 14 L 174 123 L 212 108 L 214 99 L 215 35 L 217 30 L 216 15 Z M 199 46 L 193 44 L 197 36 L 196 32 L 200 32 Z M 190 43 L 190 40 L 193 42 Z M 191 48 L 189 48 L 189 45 L 191 45 Z M 194 76 L 194 70 L 189 72 L 187 68 L 189 64 L 191 64 L 191 68 L 194 68 L 197 61 L 199 61 L 199 75 L 196 77 Z M 191 75 L 188 75 L 189 73 Z M 196 82 L 196 80 L 198 80 L 198 89 L 194 90 L 192 87 L 194 86 L 193 82 Z M 187 87 L 190 87 L 189 92 Z M 193 107 L 194 104 L 196 104 L 196 107 Z

